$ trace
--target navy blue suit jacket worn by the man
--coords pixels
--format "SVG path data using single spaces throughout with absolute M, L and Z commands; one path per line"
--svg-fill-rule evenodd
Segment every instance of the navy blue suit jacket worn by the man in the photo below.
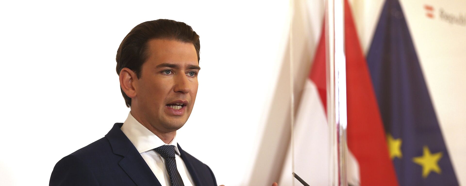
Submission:
M 62 158 L 50 186 L 161 186 L 136 147 L 117 123 L 104 138 Z M 212 170 L 183 151 L 180 156 L 196 186 L 217 186 Z

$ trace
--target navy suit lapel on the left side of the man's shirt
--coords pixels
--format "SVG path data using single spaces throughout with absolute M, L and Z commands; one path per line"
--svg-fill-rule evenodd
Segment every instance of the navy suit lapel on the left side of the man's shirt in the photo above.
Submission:
M 123 156 L 118 165 L 137 186 L 161 186 L 144 158 L 141 157 L 136 147 L 121 131 L 122 125 L 122 123 L 113 125 L 113 128 L 105 135 L 110 142 L 113 153 Z

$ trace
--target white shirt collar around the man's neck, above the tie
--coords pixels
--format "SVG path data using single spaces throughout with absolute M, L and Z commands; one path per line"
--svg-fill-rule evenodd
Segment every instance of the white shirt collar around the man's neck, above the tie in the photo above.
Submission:
M 136 147 L 137 152 L 139 153 L 150 151 L 162 145 L 174 145 L 175 152 L 180 155 L 176 134 L 169 144 L 165 144 L 162 139 L 158 138 L 158 136 L 139 123 L 136 118 L 131 115 L 131 112 L 128 114 L 126 121 L 124 121 L 121 130 L 124 135 L 130 139 L 131 143 Z

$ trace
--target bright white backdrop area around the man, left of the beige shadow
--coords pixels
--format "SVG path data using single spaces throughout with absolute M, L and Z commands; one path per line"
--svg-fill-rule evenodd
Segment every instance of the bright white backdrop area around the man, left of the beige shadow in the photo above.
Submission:
M 131 28 L 161 18 L 191 25 L 201 41 L 197 101 L 179 144 L 219 184 L 247 185 L 285 52 L 288 7 L 286 0 L 2 1 L 0 185 L 48 185 L 58 160 L 125 120 L 117 48 Z

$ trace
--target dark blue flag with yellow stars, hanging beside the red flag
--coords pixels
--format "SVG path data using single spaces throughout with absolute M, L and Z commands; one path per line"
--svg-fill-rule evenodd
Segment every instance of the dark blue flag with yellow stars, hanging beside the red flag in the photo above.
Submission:
M 458 181 L 398 0 L 386 0 L 367 63 L 401 186 Z

